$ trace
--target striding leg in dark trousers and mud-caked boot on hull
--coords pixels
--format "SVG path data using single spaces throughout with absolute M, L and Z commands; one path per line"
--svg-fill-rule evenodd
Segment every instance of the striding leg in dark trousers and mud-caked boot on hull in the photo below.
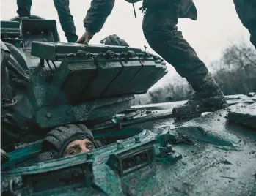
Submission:
M 150 47 L 172 64 L 178 74 L 186 78 L 197 92 L 186 105 L 175 108 L 173 114 L 186 118 L 226 107 L 222 91 L 197 53 L 183 39 L 177 23 L 177 9 L 166 5 L 147 7 L 143 20 L 143 31 Z

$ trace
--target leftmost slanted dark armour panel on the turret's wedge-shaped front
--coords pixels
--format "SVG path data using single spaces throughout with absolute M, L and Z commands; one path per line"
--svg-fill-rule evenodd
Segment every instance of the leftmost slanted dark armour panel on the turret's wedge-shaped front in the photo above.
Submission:
M 48 89 L 48 104 L 77 102 L 87 84 L 94 77 L 96 65 L 92 57 L 84 55 L 67 56 L 57 69 Z

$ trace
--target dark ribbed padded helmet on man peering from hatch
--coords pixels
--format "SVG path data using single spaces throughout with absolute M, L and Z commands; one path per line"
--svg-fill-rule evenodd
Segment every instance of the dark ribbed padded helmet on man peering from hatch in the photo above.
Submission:
M 68 144 L 74 140 L 89 139 L 98 148 L 98 144 L 93 139 L 92 132 L 84 124 L 66 124 L 56 127 L 48 132 L 43 140 L 43 151 L 55 150 L 59 153 L 59 157 L 65 151 Z

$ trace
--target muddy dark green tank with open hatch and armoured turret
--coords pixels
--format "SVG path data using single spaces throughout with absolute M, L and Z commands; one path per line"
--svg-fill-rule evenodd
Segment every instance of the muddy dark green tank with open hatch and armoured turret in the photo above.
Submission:
M 42 140 L 17 143 L 1 165 L 1 195 L 256 195 L 256 93 L 175 119 L 184 102 L 131 105 L 167 73 L 158 56 L 61 43 L 56 21 L 42 18 L 1 21 L 1 39 L 26 57 L 37 131 L 83 122 L 103 143 L 39 163 Z

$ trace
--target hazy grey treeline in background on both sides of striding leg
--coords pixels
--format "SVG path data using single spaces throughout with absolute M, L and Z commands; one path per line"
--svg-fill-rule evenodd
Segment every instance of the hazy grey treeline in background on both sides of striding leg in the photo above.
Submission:
M 256 92 L 256 50 L 244 41 L 230 44 L 219 60 L 208 65 L 224 95 Z M 194 93 L 186 79 L 175 76 L 169 83 L 136 95 L 133 105 L 186 100 Z

